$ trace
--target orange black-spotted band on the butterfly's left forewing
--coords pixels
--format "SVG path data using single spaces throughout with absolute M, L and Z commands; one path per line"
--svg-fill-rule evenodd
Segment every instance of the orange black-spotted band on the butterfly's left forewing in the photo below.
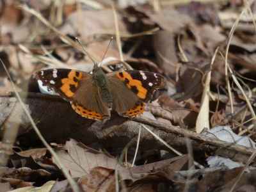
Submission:
M 81 72 L 76 72 L 74 70 L 71 70 L 68 73 L 68 77 L 61 79 L 61 91 L 67 96 L 67 97 L 73 97 L 74 92 L 71 90 L 71 86 L 74 86 L 77 88 L 78 86 L 78 80 L 82 78 L 82 73 Z

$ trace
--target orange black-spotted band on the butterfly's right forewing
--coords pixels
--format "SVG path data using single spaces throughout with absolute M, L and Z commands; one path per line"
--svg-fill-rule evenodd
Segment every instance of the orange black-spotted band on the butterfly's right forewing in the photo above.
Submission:
M 118 77 L 118 79 L 121 79 L 122 81 L 126 81 L 126 86 L 131 89 L 132 86 L 135 86 L 138 90 L 137 96 L 140 97 L 140 99 L 145 99 L 147 96 L 147 89 L 145 89 L 142 84 L 141 81 L 136 80 L 136 79 L 132 79 L 132 76 L 127 73 L 127 72 L 120 72 L 120 73 L 116 73 L 116 76 Z

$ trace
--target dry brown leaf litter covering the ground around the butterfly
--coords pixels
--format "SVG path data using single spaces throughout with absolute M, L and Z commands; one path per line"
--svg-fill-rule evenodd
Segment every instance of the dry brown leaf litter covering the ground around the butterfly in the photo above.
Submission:
M 254 1 L 22 3 L 0 4 L 0 58 L 58 159 L 1 68 L 1 191 L 256 190 Z M 40 92 L 34 72 L 90 72 L 90 56 L 106 73 L 160 73 L 166 87 L 143 116 L 108 122 Z

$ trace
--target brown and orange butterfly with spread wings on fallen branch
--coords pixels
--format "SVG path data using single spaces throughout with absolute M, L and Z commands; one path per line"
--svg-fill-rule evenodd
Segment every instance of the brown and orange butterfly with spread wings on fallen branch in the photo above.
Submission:
M 40 70 L 36 79 L 70 102 L 76 113 L 93 120 L 108 120 L 114 110 L 121 116 L 143 113 L 145 102 L 157 89 L 164 88 L 164 77 L 154 72 L 127 70 L 105 74 L 94 65 L 92 74 L 68 68 Z

